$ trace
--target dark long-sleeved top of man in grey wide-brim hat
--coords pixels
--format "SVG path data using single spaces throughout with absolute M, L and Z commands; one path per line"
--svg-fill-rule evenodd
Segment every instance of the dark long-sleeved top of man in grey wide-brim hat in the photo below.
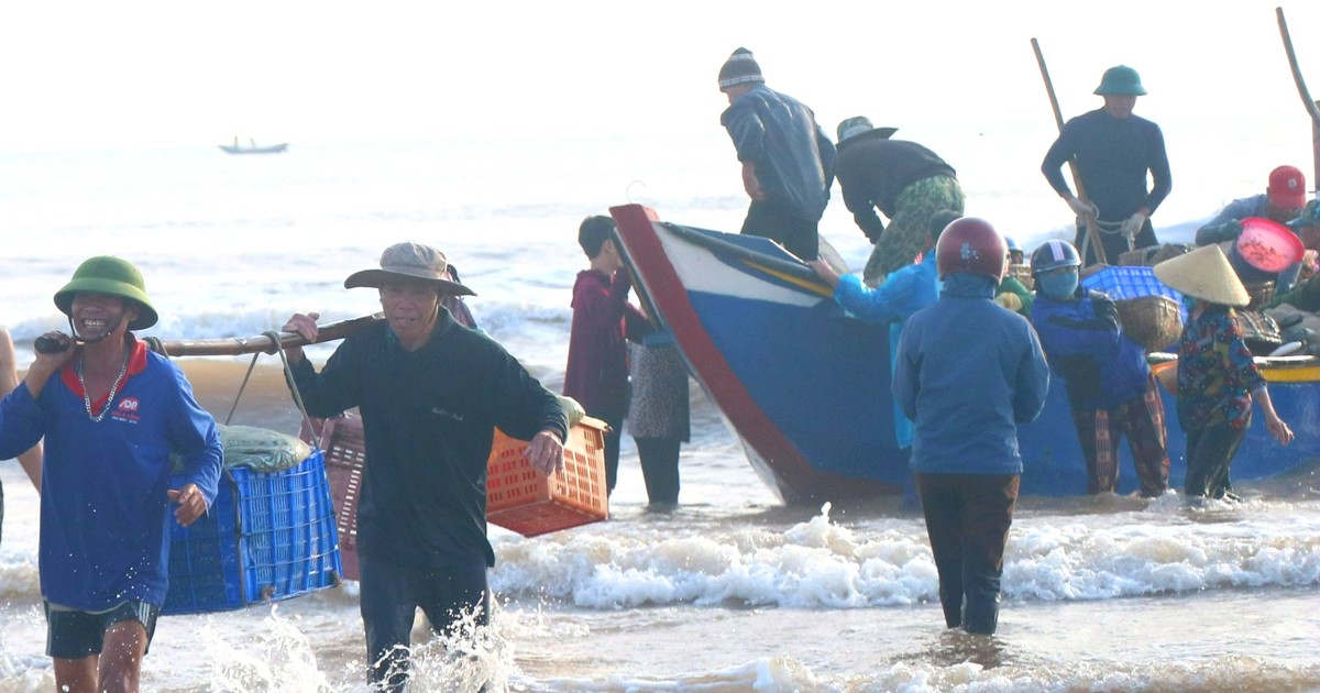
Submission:
M 430 341 L 404 348 L 388 325 L 343 341 L 319 374 L 293 368 L 308 413 L 356 407 L 367 446 L 358 552 L 409 565 L 495 564 L 486 469 L 495 428 L 531 440 L 568 421 L 553 393 L 504 347 L 440 312 Z

